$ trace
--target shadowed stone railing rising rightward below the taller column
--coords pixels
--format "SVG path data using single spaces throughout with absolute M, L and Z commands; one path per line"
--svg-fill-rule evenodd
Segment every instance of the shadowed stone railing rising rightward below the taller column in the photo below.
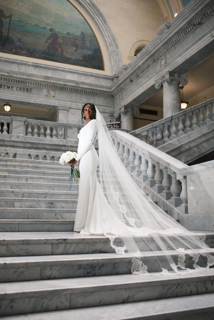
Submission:
M 132 131 L 130 134 L 154 147 L 159 147 L 212 121 L 214 121 L 214 98 Z

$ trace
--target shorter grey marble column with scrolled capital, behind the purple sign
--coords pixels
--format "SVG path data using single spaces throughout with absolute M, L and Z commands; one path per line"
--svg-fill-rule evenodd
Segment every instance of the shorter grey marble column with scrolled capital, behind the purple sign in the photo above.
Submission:
M 134 130 L 133 115 L 137 116 L 139 114 L 138 108 L 132 107 L 122 107 L 115 112 L 115 117 L 117 118 L 121 115 L 121 129 Z

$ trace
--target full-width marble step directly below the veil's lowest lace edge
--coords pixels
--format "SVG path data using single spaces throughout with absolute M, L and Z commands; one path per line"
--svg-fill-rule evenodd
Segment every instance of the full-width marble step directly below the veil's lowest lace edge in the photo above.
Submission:
M 4 283 L 0 287 L 0 315 L 88 308 L 124 302 L 148 303 L 148 300 L 156 302 L 155 299 L 162 299 L 162 307 L 166 310 L 163 299 L 213 293 L 213 278 L 214 268 L 198 271 L 197 276 L 195 273 L 179 276 L 126 274 Z M 199 305 L 201 306 L 201 302 Z

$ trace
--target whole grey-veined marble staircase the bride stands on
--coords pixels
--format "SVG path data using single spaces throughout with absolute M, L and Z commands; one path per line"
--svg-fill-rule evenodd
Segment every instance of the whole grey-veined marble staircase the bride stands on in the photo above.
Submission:
M 72 231 L 78 184 L 68 190 L 66 169 L 0 159 L 2 319 L 212 319 L 214 268 L 158 276 L 155 257 L 166 257 L 154 247 L 143 256 L 151 275 L 134 276 L 132 257 L 117 255 L 106 237 Z M 205 234 L 214 247 L 214 232 Z

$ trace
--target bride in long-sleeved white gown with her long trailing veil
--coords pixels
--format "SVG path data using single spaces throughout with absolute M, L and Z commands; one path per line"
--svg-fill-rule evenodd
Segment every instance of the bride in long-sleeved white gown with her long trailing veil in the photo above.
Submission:
M 142 258 L 151 251 L 162 274 L 168 274 L 168 270 L 190 272 L 190 267 L 199 270 L 201 257 L 206 258 L 200 261 L 203 267 L 213 265 L 214 257 L 209 253 L 212 249 L 201 240 L 204 237 L 179 225 L 134 183 L 93 103 L 82 107 L 83 118 L 86 125 L 78 134 L 77 157 L 68 163 L 79 161 L 80 170 L 74 231 L 107 236 L 116 253 L 133 256 L 133 274 L 148 274 L 146 259 Z M 94 148 L 97 138 L 99 156 Z M 185 262 L 186 254 L 193 258 L 192 263 L 189 259 Z

